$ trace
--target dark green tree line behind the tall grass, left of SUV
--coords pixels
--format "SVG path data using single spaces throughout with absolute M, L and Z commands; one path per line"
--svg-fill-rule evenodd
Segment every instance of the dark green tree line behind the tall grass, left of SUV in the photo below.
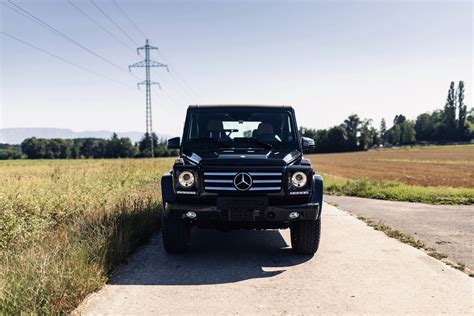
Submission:
M 130 138 L 119 138 L 112 134 L 110 139 L 75 138 L 44 139 L 31 137 L 20 145 L 0 144 L 0 159 L 82 159 L 82 158 L 142 158 L 151 157 L 151 138 L 154 156 L 177 156 L 177 150 L 169 150 L 166 140 L 159 140 L 155 133 L 146 133 L 132 143 Z

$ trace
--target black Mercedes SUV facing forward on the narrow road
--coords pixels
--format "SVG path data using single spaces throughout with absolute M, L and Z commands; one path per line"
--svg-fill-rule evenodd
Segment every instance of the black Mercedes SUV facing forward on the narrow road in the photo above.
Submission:
M 296 253 L 314 254 L 321 233 L 323 181 L 303 149 L 289 106 L 190 106 L 173 170 L 161 179 L 163 243 L 185 251 L 193 226 L 290 228 Z

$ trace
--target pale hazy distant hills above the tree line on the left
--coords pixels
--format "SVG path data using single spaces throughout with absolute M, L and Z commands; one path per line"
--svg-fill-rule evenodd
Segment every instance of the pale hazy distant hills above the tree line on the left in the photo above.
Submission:
M 110 138 L 111 131 L 83 131 L 75 132 L 65 128 L 0 128 L 0 143 L 20 144 L 24 139 L 29 137 L 37 138 Z M 132 142 L 137 142 L 143 137 L 143 132 L 117 132 L 119 137 L 128 137 Z M 157 134 L 158 138 L 168 139 L 170 136 L 166 134 Z

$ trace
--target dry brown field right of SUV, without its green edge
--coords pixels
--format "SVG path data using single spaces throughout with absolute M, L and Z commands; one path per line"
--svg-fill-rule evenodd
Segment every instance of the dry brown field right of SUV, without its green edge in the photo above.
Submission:
M 474 188 L 474 145 L 316 154 L 307 158 L 318 172 L 335 178 Z

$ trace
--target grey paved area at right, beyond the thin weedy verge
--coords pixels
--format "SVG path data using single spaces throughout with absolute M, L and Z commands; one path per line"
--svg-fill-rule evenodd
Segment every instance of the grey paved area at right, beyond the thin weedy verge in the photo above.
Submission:
M 429 205 L 328 195 L 324 199 L 353 214 L 382 221 L 414 236 L 474 272 L 472 205 Z

